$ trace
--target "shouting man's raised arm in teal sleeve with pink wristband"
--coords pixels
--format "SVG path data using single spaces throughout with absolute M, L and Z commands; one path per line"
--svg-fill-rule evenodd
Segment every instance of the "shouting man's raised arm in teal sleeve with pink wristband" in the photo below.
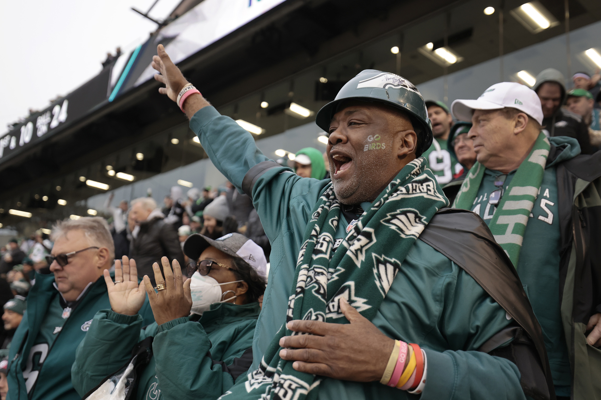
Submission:
M 165 84 L 159 92 L 176 101 L 189 83 L 160 44 L 157 53 L 152 65 L 160 74 L 154 79 Z M 299 228 L 302 238 L 305 217 L 311 214 L 328 181 L 300 178 L 291 169 L 269 160 L 257 148 L 251 133 L 219 114 L 201 94 L 189 95 L 181 105 L 190 119 L 190 128 L 215 167 L 238 190 L 251 196 L 267 237 L 273 240 L 286 224 L 284 219 L 290 215 L 290 209 L 297 207 L 299 212 L 294 212 L 292 218 L 302 216 L 301 221 L 288 221 L 294 226 L 286 230 Z

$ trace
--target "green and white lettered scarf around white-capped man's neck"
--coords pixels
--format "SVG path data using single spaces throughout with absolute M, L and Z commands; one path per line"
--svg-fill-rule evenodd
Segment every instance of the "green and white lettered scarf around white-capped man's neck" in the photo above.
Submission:
M 540 191 L 540 184 L 543 182 L 549 149 L 549 139 L 541 132 L 532 151 L 511 179 L 511 184 L 497 204 L 495 215 L 489 224 L 496 242 L 505 250 L 513 266 L 517 266 L 520 257 L 524 231 L 534 207 L 534 200 Z M 478 196 L 485 169 L 486 167 L 478 162 L 474 164 L 457 193 L 453 207 L 471 209 Z

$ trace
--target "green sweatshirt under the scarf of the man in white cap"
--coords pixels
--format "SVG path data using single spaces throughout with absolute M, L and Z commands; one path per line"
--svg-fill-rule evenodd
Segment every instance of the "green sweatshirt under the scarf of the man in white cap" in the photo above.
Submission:
M 513 170 L 507 175 L 505 193 L 515 175 Z M 486 169 L 478 190 L 478 196 L 471 206 L 472 212 L 480 215 L 490 224 L 496 207 L 489 203 L 490 193 L 495 191 L 495 178 L 501 172 Z M 570 362 L 566 347 L 560 310 L 560 224 L 557 200 L 557 178 L 555 167 L 545 169 L 538 197 L 526 224 L 522 250 L 517 261 L 517 274 L 540 326 L 543 329 L 545 347 L 549 355 L 553 383 L 567 388 L 571 383 Z M 566 393 L 558 392 L 566 396 Z

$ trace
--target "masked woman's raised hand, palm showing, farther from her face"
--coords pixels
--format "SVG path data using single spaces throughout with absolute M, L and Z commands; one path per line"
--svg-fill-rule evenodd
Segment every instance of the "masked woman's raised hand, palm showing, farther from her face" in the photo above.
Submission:
M 123 256 L 123 261 L 115 260 L 114 283 L 108 269 L 105 269 L 104 276 L 112 311 L 125 315 L 138 314 L 144 305 L 146 291 L 142 287 L 142 282 L 138 284 L 136 261 L 129 260 L 127 255 Z

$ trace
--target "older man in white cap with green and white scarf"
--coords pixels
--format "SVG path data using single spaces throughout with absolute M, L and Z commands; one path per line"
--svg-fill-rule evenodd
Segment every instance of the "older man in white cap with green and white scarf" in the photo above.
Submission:
M 576 139 L 542 133 L 534 91 L 490 86 L 456 100 L 474 124 L 477 163 L 453 206 L 489 225 L 507 252 L 540 321 L 560 398 L 599 399 L 601 386 L 601 154 L 579 155 Z M 596 199 L 596 200 L 594 200 Z

